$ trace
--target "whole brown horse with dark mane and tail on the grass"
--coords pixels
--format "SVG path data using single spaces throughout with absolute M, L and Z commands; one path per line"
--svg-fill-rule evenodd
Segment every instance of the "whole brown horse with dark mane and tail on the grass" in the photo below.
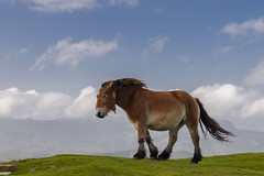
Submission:
M 204 133 L 201 122 L 212 138 L 219 141 L 228 141 L 224 135 L 233 135 L 208 116 L 198 98 L 182 90 L 152 91 L 145 87 L 145 84 L 134 78 L 109 80 L 101 85 L 97 95 L 97 117 L 105 118 L 111 110 L 116 112 L 116 105 L 118 105 L 138 130 L 139 150 L 134 160 L 145 157 L 144 142 L 148 145 L 151 158 L 162 161 L 169 158 L 178 131 L 184 124 L 187 125 L 195 146 L 191 163 L 196 164 L 202 157 L 199 147 L 198 123 Z M 158 156 L 148 129 L 169 133 L 168 144 Z

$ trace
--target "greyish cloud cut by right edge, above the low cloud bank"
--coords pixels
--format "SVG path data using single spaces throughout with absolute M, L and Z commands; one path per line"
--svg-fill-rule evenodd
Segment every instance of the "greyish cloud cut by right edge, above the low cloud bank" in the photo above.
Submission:
M 248 86 L 264 85 L 264 59 L 260 61 L 254 69 L 245 77 L 244 84 Z

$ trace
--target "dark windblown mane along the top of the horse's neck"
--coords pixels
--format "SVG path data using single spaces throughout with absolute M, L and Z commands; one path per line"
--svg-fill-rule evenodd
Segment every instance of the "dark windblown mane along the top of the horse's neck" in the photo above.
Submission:
M 122 79 L 116 79 L 116 80 L 108 80 L 103 82 L 101 87 L 107 87 L 110 82 L 113 82 L 117 89 L 146 87 L 146 85 L 142 80 L 139 80 L 135 78 L 122 78 Z

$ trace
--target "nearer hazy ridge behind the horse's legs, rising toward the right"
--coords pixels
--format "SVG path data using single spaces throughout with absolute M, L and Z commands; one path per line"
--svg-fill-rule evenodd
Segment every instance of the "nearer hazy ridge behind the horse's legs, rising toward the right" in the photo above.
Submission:
M 235 129 L 229 121 L 220 121 L 221 127 L 234 133 L 234 138 L 229 138 L 230 142 L 219 142 L 207 134 L 200 132 L 200 147 L 204 156 L 226 155 L 233 153 L 264 152 L 264 132 L 245 131 Z M 154 135 L 155 144 L 160 147 L 160 152 L 167 144 L 167 133 Z M 165 145 L 164 145 L 165 144 Z M 174 146 L 170 158 L 187 158 L 193 157 L 193 143 L 186 128 L 179 131 L 178 141 Z M 147 147 L 146 147 L 147 148 Z M 147 150 L 146 150 L 147 151 Z M 100 153 L 107 156 L 133 157 L 136 148 L 122 152 Z M 147 151 L 148 152 L 148 151 Z M 148 156 L 148 153 L 147 153 Z

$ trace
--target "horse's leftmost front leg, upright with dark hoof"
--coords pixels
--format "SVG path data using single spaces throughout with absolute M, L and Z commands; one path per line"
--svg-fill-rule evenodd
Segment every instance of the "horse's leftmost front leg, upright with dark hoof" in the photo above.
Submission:
M 146 128 L 143 124 L 136 123 L 135 129 L 138 130 L 139 148 L 134 154 L 134 160 L 142 160 L 145 157 L 144 142 L 146 140 Z

